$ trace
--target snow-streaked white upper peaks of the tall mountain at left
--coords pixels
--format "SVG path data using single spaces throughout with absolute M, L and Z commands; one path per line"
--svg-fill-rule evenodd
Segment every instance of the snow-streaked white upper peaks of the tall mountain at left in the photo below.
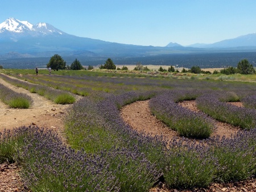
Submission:
M 63 31 L 51 26 L 48 23 L 37 23 L 35 25 L 27 21 L 21 21 L 14 18 L 6 19 L 5 22 L 0 24 L 0 34 L 30 34 L 32 36 L 38 35 L 63 35 Z

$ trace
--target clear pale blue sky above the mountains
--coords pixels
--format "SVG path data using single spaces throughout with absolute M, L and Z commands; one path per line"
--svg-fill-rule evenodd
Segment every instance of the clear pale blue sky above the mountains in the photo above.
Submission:
M 1 0 L 13 17 L 104 41 L 166 46 L 214 43 L 256 32 L 255 0 Z

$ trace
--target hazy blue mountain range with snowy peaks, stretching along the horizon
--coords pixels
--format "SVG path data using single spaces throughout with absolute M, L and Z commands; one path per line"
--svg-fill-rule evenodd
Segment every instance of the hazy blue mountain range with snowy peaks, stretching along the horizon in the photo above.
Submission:
M 0 59 L 49 57 L 54 54 L 73 57 L 144 57 L 175 53 L 256 51 L 256 33 L 213 44 L 166 47 L 111 43 L 69 35 L 48 23 L 35 25 L 9 18 L 0 24 Z

